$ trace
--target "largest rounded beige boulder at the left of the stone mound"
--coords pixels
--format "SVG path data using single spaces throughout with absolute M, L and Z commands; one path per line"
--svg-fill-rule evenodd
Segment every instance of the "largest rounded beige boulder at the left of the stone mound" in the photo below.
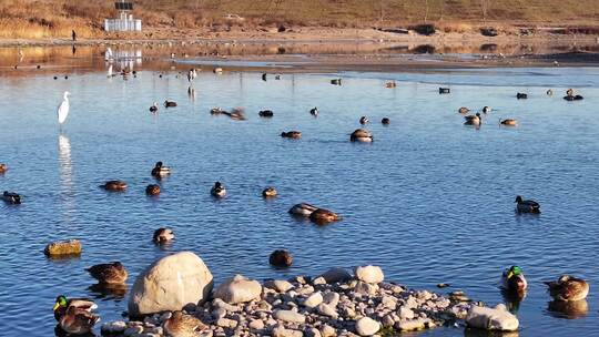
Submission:
M 212 287 L 212 273 L 197 255 L 192 252 L 169 255 L 138 276 L 129 297 L 129 315 L 181 310 L 187 304 L 206 300 Z

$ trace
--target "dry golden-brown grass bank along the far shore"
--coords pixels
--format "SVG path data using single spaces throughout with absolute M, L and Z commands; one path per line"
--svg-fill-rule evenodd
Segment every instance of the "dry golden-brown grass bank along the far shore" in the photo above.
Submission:
M 224 19 L 236 13 L 244 21 Z M 0 38 L 104 37 L 113 1 L 2 0 Z M 434 23 L 444 32 L 480 25 L 598 25 L 598 0 L 136 0 L 144 27 L 227 30 L 234 27 L 397 28 Z

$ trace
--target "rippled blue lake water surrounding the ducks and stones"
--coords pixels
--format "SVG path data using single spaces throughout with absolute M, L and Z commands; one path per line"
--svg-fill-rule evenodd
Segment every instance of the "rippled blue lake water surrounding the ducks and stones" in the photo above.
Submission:
M 52 70 L 0 78 L 0 162 L 10 166 L 0 186 L 23 196 L 20 206 L 0 205 L 0 335 L 52 335 L 59 294 L 94 297 L 103 321 L 120 319 L 126 295 L 94 292 L 83 268 L 121 261 L 131 286 L 145 266 L 180 251 L 200 255 L 216 282 L 376 264 L 387 280 L 427 289 L 449 283 L 439 292 L 463 289 L 491 305 L 504 300 L 501 270 L 518 264 L 529 282 L 521 336 L 599 334 L 599 69 L 284 73 L 266 82 L 256 72 L 203 71 L 191 99 L 186 79 L 175 76 L 187 67 L 163 78 L 142 68 L 126 81 L 103 68 L 61 68 L 68 80 L 53 80 Z M 343 85 L 331 85 L 337 76 Z M 397 88 L 386 89 L 386 79 Z M 439 95 L 439 85 L 451 94 Z M 564 101 L 570 86 L 585 100 Z M 55 108 L 65 90 L 71 112 L 60 130 Z M 165 99 L 179 106 L 149 113 Z M 463 125 L 463 105 L 495 111 L 476 130 Z M 214 106 L 244 106 L 248 119 L 211 116 Z M 274 118 L 260 119 L 263 109 Z M 370 119 L 373 144 L 348 141 L 361 115 Z M 519 126 L 499 127 L 505 118 Z M 281 139 L 288 130 L 303 137 Z M 160 197 L 149 198 L 156 161 L 173 173 L 160 182 Z M 128 192 L 98 187 L 112 178 L 126 181 Z M 215 181 L 229 190 L 223 201 L 210 196 Z M 267 185 L 280 196 L 264 201 Z M 540 202 L 542 214 L 515 214 L 518 194 Z M 344 219 L 324 227 L 297 221 L 287 210 L 300 202 Z M 151 241 L 162 226 L 176 235 L 166 248 Z M 65 238 L 82 241 L 80 258 L 44 257 L 47 243 Z M 276 248 L 292 252 L 293 267 L 268 266 Z M 578 319 L 548 310 L 542 280 L 566 273 L 591 284 Z

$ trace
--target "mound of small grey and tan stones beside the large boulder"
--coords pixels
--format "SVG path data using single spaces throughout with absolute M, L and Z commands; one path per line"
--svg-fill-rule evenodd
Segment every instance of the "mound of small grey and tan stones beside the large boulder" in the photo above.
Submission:
M 142 273 L 140 278 L 148 277 Z M 136 300 L 136 286 L 130 298 L 130 313 L 132 302 Z M 161 310 L 138 320 L 105 323 L 101 331 L 104 336 L 138 337 L 327 337 L 385 336 L 439 326 L 518 328 L 517 318 L 502 305 L 491 309 L 470 302 L 459 292 L 443 296 L 408 289 L 385 282 L 377 266 L 359 266 L 353 274 L 333 268 L 314 278 L 296 276 L 262 284 L 236 275 L 206 299 L 197 305 L 190 303 L 182 312 Z

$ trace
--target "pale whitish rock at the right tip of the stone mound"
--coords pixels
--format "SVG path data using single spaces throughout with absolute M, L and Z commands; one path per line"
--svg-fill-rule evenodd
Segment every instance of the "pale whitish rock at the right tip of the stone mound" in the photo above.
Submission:
M 504 304 L 499 304 L 495 308 L 473 306 L 466 316 L 466 324 L 486 330 L 515 331 L 520 323 Z

